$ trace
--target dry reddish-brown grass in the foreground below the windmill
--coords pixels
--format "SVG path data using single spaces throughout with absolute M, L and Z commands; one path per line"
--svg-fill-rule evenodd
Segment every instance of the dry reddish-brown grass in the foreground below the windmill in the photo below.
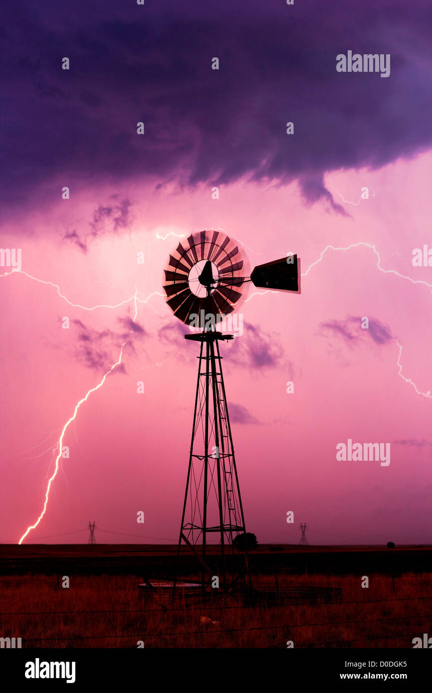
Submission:
M 24 647 L 130 648 L 144 640 L 145 647 L 159 648 L 285 648 L 293 640 L 295 647 L 411 648 L 415 636 L 430 631 L 429 574 L 397 577 L 395 591 L 384 575 L 372 576 L 368 589 L 353 576 L 280 576 L 279 585 L 340 587 L 342 603 L 244 607 L 231 598 L 225 607 L 232 608 L 196 605 L 172 611 L 140 598 L 135 576 L 71 577 L 70 588 L 60 590 L 55 577 L 9 576 L 0 579 L 0 635 L 21 637 Z M 10 611 L 22 615 L 4 613 Z M 220 624 L 201 624 L 202 615 Z

